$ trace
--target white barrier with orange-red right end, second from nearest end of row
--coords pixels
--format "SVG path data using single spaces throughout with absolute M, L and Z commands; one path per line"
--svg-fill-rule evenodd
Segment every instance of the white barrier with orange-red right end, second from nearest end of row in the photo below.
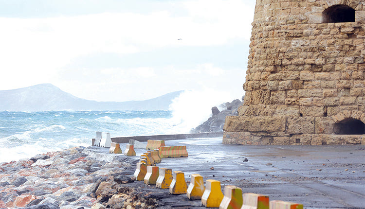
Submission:
M 269 196 L 255 193 L 244 193 L 241 209 L 269 209 Z

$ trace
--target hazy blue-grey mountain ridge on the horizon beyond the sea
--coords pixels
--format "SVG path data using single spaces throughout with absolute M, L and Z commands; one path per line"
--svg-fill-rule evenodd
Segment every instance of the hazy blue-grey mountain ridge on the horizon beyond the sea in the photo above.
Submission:
M 96 102 L 77 98 L 52 84 L 0 90 L 0 111 L 52 111 L 52 110 L 167 110 L 172 100 L 183 91 L 163 96 L 128 102 Z

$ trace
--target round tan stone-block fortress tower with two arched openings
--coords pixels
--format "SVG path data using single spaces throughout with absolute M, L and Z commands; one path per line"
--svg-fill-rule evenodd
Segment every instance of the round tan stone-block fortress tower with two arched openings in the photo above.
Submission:
M 365 0 L 256 0 L 223 143 L 365 144 Z

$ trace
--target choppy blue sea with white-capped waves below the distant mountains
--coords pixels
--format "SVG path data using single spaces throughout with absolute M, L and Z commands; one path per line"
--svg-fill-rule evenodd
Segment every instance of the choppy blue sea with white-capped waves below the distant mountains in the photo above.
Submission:
M 0 162 L 75 146 L 88 147 L 96 131 L 113 137 L 188 133 L 192 122 L 172 111 L 0 112 Z M 198 122 L 199 123 L 199 122 Z

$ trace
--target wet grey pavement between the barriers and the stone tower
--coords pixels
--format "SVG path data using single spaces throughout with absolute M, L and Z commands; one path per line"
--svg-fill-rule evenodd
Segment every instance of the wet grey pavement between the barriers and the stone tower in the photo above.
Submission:
M 253 146 L 221 141 L 165 141 L 166 146 L 186 145 L 189 157 L 163 158 L 157 166 L 182 171 L 187 181 L 190 174 L 201 174 L 204 181 L 219 180 L 222 190 L 225 185 L 236 185 L 243 192 L 301 203 L 308 209 L 365 207 L 364 145 Z M 137 156 L 132 158 L 136 159 L 146 152 L 135 151 Z

